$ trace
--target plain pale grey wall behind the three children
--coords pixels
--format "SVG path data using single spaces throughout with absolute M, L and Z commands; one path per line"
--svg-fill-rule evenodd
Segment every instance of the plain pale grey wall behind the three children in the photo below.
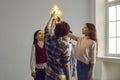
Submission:
M 33 80 L 29 59 L 33 33 L 44 29 L 58 4 L 73 33 L 90 20 L 89 0 L 0 0 L 0 80 Z

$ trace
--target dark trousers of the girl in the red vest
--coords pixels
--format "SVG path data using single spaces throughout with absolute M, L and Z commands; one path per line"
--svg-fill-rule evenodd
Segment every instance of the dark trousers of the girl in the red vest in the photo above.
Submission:
M 36 70 L 36 78 L 35 80 L 45 80 L 45 69 L 35 69 Z

